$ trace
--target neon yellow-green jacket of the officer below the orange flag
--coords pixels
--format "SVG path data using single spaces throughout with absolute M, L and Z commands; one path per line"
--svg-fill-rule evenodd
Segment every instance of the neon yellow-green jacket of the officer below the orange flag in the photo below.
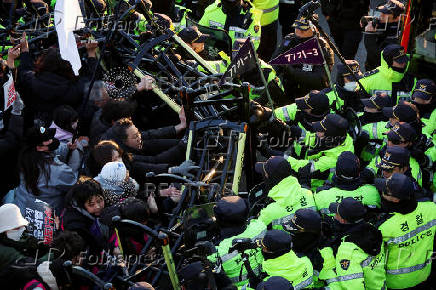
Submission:
M 381 64 L 380 66 L 372 71 L 369 71 L 364 74 L 364 77 L 361 78 L 359 81 L 362 84 L 362 86 L 365 88 L 366 92 L 368 92 L 370 95 L 375 94 L 377 91 L 382 91 L 387 93 L 389 96 L 392 95 L 392 83 L 400 82 L 405 73 L 400 73 L 394 71 L 392 68 L 388 66 L 386 61 L 383 58 L 383 55 L 380 54 Z M 410 62 L 408 63 L 406 67 L 406 72 L 409 67 Z M 398 103 L 398 100 L 403 97 L 409 97 L 410 92 L 413 91 L 416 84 L 416 78 L 414 79 L 414 85 L 413 88 L 408 92 L 397 92 L 397 98 L 395 101 L 395 104 Z

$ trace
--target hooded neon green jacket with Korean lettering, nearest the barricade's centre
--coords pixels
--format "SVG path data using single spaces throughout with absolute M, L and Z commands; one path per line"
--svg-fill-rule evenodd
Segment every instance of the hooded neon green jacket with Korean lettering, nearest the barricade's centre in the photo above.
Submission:
M 293 176 L 274 186 L 268 197 L 274 202 L 260 211 L 258 219 L 266 226 L 272 224 L 273 229 L 282 229 L 282 223 L 290 220 L 300 208 L 316 209 L 312 192 L 302 188 Z

